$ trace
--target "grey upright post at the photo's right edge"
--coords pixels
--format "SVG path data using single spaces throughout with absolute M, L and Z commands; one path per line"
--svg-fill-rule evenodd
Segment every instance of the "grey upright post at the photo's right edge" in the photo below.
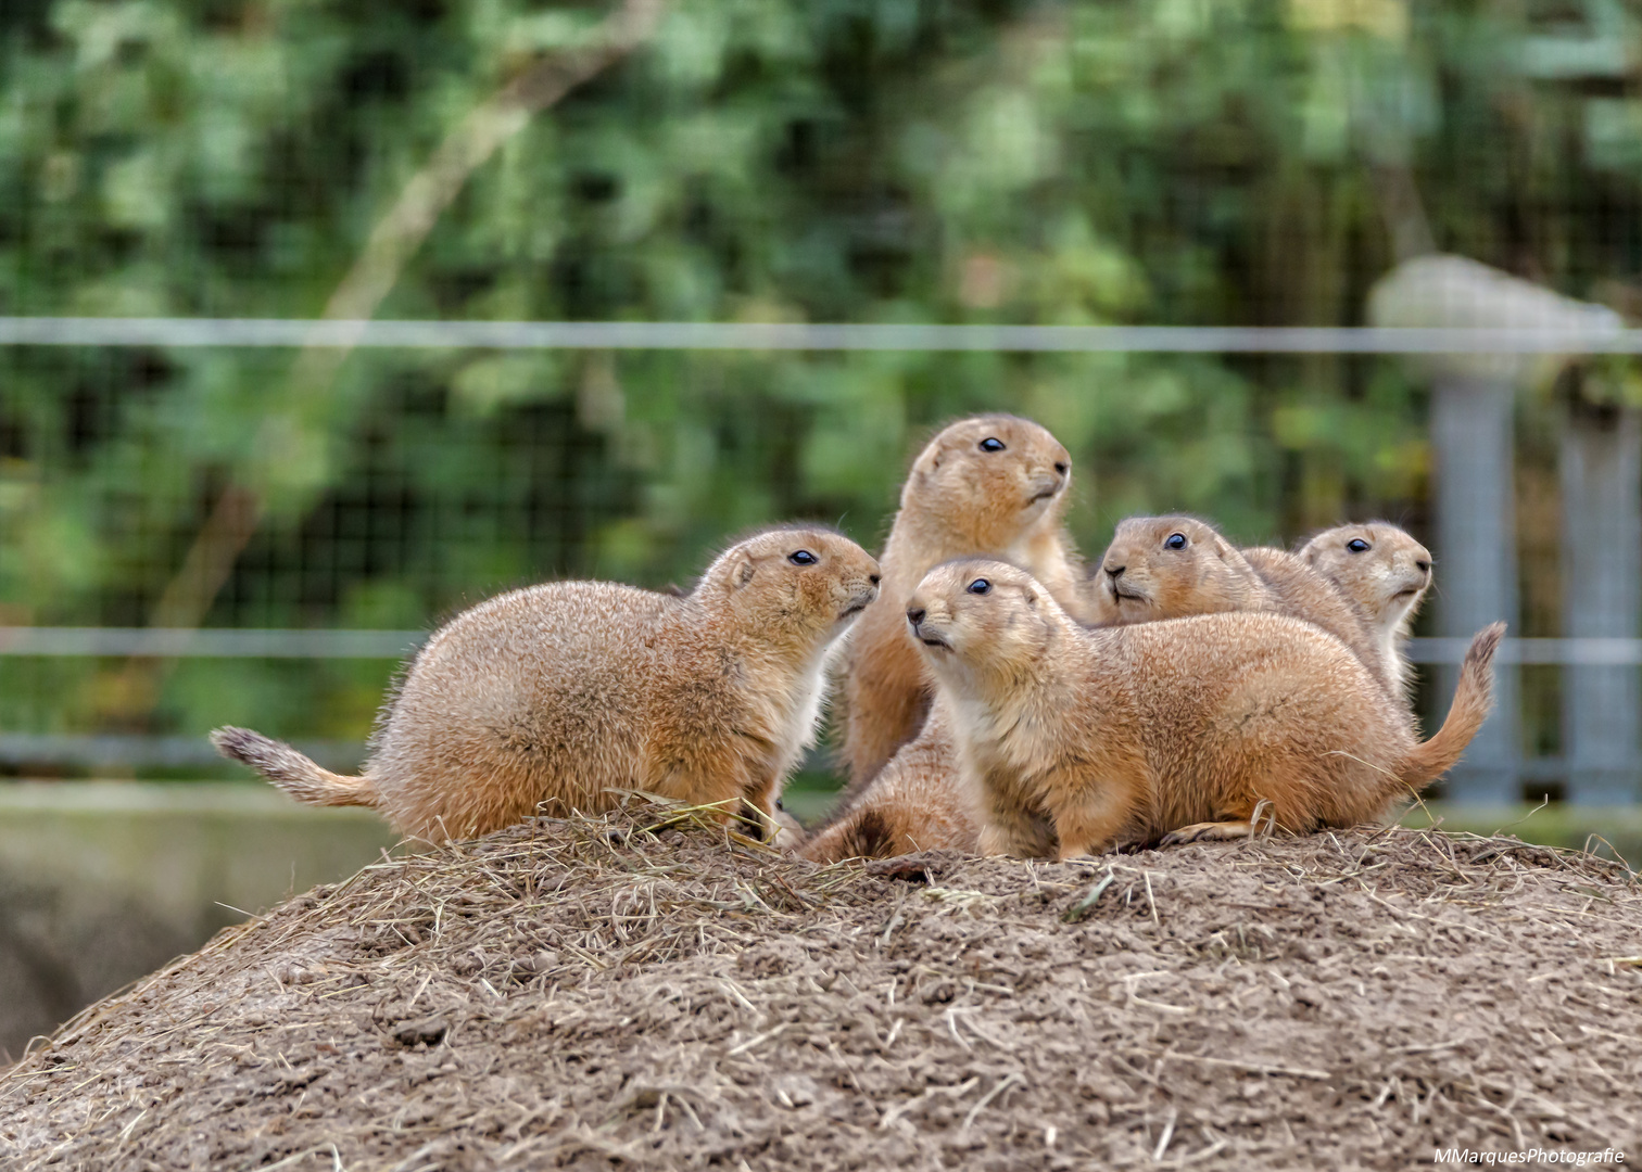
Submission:
M 1642 425 L 1576 402 L 1562 438 L 1563 634 L 1635 639 L 1642 617 Z M 1568 801 L 1637 801 L 1635 666 L 1563 670 Z

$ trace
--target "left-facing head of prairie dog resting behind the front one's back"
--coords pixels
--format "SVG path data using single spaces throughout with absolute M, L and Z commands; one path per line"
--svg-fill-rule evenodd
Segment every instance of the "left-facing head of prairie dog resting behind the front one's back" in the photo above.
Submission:
M 1192 517 L 1118 522 L 1095 578 L 1095 622 L 1110 624 L 1240 611 L 1261 593 L 1236 547 Z

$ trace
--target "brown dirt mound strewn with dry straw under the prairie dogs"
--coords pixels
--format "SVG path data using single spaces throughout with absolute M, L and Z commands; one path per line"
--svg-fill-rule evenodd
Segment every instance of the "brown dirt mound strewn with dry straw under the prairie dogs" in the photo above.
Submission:
M 1412 831 L 864 870 L 539 821 L 222 932 L 0 1078 L 8 1169 L 1642 1159 L 1642 890 Z

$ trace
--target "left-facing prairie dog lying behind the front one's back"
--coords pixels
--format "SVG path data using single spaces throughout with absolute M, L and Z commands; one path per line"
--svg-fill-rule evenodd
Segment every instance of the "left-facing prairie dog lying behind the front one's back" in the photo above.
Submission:
M 1098 612 L 1107 624 L 1230 611 L 1287 614 L 1327 630 L 1383 688 L 1402 696 L 1360 611 L 1294 553 L 1261 545 L 1238 550 L 1194 517 L 1130 517 L 1118 524 L 1098 576 Z

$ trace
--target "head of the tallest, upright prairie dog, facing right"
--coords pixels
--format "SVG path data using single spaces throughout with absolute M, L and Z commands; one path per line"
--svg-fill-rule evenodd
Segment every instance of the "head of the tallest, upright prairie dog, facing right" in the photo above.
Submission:
M 961 419 L 913 461 L 900 524 L 915 527 L 921 548 L 1008 550 L 1059 529 L 1071 483 L 1072 456 L 1030 419 Z

